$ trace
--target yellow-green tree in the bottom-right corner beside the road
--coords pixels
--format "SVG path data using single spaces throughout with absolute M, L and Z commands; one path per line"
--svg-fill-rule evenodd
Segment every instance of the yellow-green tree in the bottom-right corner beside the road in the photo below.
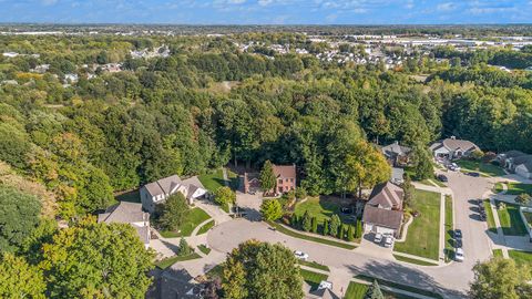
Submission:
M 474 280 L 470 285 L 470 298 L 518 299 L 530 298 L 532 288 L 530 268 L 516 266 L 512 259 L 492 258 L 477 262 L 473 267 Z

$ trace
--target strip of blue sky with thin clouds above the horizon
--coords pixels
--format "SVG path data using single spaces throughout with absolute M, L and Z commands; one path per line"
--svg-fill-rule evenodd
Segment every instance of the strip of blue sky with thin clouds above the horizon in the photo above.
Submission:
M 530 23 L 532 0 L 0 0 L 0 22 Z

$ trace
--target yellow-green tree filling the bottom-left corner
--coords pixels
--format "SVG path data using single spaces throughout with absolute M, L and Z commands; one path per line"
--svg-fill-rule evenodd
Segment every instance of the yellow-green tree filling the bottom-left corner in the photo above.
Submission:
M 22 257 L 4 254 L 0 260 L 0 298 L 44 299 L 47 283 L 42 271 Z

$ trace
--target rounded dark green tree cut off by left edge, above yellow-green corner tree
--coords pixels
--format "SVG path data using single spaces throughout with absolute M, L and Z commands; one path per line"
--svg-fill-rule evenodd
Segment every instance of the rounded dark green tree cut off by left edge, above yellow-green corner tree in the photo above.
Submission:
M 39 225 L 41 203 L 33 195 L 0 185 L 0 254 L 16 251 Z

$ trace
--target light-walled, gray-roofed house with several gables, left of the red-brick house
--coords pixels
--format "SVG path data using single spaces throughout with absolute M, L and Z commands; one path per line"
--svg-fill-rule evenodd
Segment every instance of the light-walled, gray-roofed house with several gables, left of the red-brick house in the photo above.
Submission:
M 207 193 L 197 177 L 181 181 L 177 175 L 172 175 L 142 186 L 142 207 L 153 213 L 156 204 L 164 203 L 168 196 L 177 192 L 185 196 L 190 205 L 194 204 L 195 198 L 202 197 Z

